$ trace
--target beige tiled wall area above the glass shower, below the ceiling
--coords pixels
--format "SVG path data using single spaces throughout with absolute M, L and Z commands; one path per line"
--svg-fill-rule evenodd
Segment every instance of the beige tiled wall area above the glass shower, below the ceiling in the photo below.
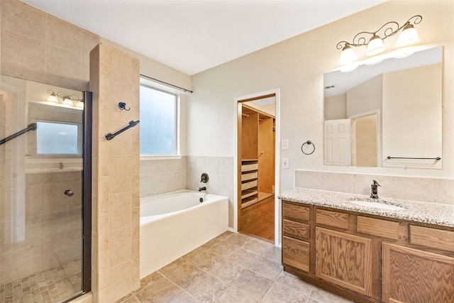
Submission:
M 19 1 L 1 6 L 1 74 L 75 90 L 89 87 L 99 36 Z

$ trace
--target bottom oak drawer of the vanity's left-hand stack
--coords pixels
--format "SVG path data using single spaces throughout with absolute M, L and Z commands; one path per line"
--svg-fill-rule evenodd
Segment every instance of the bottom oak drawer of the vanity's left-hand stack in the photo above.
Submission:
M 309 272 L 309 243 L 284 236 L 282 238 L 282 263 Z

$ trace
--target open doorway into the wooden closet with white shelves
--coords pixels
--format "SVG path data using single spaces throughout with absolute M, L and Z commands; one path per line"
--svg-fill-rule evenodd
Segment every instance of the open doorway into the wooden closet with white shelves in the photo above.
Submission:
M 273 92 L 241 98 L 236 104 L 238 231 L 271 242 L 279 238 L 276 99 Z

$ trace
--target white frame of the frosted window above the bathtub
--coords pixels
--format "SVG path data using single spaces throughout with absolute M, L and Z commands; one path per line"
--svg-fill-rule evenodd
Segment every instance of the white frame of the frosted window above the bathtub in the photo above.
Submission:
M 175 92 L 174 89 L 169 89 L 163 85 L 152 82 L 144 77 L 140 77 L 140 87 L 147 87 L 148 89 L 154 89 L 158 92 L 163 92 L 165 94 L 171 94 L 175 96 L 175 154 L 165 155 L 165 154 L 155 154 L 155 155 L 142 155 L 140 153 L 140 160 L 161 160 L 161 159 L 180 159 L 182 158 L 180 151 L 180 131 L 181 131 L 181 113 L 180 113 L 180 102 L 181 95 L 178 92 Z M 139 97 L 140 104 L 140 97 Z M 140 128 L 140 131 L 142 128 Z M 140 148 L 139 148 L 140 150 Z

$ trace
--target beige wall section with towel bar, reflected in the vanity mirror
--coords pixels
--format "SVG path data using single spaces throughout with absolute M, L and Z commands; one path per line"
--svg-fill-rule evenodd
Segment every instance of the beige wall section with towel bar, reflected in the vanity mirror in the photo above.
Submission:
M 387 156 L 441 157 L 441 63 L 383 75 L 383 165 L 441 168 L 441 161 L 387 160 Z M 401 155 L 401 156 L 397 156 Z

